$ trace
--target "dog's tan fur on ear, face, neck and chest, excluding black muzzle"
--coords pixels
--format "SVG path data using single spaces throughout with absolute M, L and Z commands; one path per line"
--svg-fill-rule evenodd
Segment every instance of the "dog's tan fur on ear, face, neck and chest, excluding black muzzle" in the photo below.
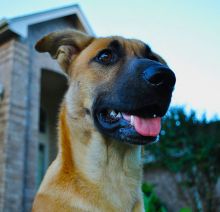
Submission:
M 60 109 L 58 155 L 47 170 L 33 211 L 144 211 L 141 147 L 104 137 L 86 112 L 97 87 L 110 89 L 120 72 L 120 64 L 111 71 L 89 64 L 116 37 L 91 38 L 76 31 L 64 34 L 71 34 L 68 42 L 62 41 L 62 33 L 51 34 L 36 46 L 59 58 L 69 77 L 69 89 Z M 140 41 L 117 39 L 128 57 L 141 54 Z M 57 40 L 55 48 L 53 41 Z

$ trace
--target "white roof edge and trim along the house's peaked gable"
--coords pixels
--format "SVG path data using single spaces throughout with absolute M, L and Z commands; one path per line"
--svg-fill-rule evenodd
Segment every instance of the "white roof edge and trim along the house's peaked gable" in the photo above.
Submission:
M 85 31 L 90 35 L 94 35 L 79 5 L 74 4 L 11 19 L 2 19 L 0 20 L 0 39 L 4 39 L 11 33 L 12 35 L 18 35 L 26 38 L 29 26 L 71 15 L 77 15 Z

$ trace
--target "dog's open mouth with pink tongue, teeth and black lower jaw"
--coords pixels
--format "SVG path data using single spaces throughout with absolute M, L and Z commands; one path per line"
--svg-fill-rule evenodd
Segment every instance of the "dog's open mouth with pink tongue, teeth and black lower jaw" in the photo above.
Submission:
M 122 112 L 106 108 L 95 112 L 95 123 L 103 134 L 116 140 L 129 144 L 149 144 L 159 140 L 163 114 L 158 110 L 153 112 L 152 106 L 145 108 L 145 111 L 148 112 L 143 113 L 143 109 Z

